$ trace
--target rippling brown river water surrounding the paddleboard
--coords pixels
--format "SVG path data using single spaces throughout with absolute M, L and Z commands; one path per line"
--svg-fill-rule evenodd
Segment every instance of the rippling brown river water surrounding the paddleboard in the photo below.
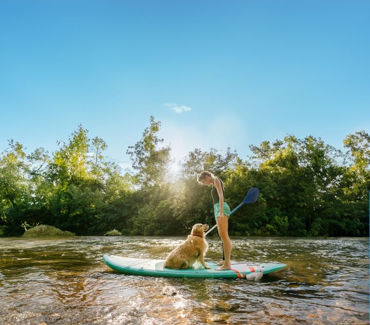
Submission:
M 0 238 L 0 324 L 368 324 L 368 238 L 232 238 L 232 260 L 279 261 L 261 280 L 155 278 L 103 254 L 165 258 L 180 237 Z M 207 261 L 220 259 L 208 238 Z

